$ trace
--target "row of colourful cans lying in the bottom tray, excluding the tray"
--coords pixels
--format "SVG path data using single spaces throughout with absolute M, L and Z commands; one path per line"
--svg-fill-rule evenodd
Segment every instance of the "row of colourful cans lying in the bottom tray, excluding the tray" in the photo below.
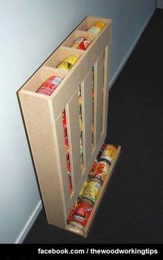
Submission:
M 78 201 L 73 205 L 73 209 L 68 216 L 68 223 L 77 229 L 83 230 L 88 222 L 93 205 L 115 156 L 116 147 L 114 145 L 103 145 L 100 150 L 90 169 L 88 180 L 85 180 L 79 192 Z

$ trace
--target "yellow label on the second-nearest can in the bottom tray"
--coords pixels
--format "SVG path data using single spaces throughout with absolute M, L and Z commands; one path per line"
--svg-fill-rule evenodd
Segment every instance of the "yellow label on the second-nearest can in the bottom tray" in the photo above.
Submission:
M 86 186 L 86 189 L 84 190 L 82 198 L 88 198 L 90 199 L 90 201 L 93 201 L 93 203 L 95 203 L 101 187 L 102 185 L 97 183 L 97 181 L 90 180 L 88 182 L 88 185 Z

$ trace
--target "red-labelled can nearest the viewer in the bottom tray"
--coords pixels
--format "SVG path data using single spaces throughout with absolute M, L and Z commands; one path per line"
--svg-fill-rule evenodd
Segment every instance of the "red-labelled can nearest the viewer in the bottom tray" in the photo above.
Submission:
M 79 230 L 84 230 L 84 227 L 86 226 L 86 223 L 89 219 L 92 210 L 93 210 L 93 205 L 81 201 L 77 205 L 75 211 L 73 212 L 73 216 L 71 218 L 70 224 Z

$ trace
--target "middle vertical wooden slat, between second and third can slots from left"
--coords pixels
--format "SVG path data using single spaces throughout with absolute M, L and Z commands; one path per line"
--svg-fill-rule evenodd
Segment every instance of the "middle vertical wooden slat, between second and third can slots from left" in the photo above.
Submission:
M 92 156 L 92 71 L 88 73 L 84 81 L 81 83 L 81 110 L 83 124 L 83 154 L 84 165 L 87 165 Z

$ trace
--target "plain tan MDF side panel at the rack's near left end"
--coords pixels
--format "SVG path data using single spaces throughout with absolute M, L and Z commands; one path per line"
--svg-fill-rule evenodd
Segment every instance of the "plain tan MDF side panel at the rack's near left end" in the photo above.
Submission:
M 66 218 L 48 100 L 21 91 L 19 97 L 48 222 L 64 228 Z

